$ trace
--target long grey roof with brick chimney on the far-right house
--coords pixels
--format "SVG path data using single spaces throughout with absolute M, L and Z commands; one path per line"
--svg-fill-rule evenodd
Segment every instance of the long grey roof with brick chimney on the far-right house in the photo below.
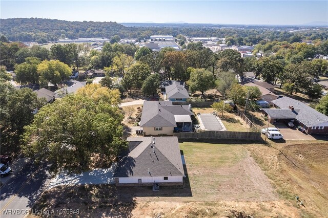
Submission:
M 294 111 L 297 113 L 296 119 L 308 127 L 328 122 L 327 116 L 293 98 L 282 97 L 271 102 L 280 108 L 289 108 L 289 106 L 294 106 Z

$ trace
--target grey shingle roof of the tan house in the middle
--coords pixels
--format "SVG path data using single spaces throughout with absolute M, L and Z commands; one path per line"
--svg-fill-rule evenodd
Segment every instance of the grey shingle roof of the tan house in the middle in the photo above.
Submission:
M 193 115 L 188 105 L 172 105 L 172 101 L 144 101 L 141 127 L 176 127 L 174 115 Z

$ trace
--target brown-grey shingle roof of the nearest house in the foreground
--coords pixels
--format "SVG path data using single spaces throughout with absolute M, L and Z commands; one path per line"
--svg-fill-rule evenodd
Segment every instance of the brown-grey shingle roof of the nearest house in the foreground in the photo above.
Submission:
M 134 148 L 118 161 L 114 178 L 185 175 L 177 137 L 129 137 L 128 141 Z

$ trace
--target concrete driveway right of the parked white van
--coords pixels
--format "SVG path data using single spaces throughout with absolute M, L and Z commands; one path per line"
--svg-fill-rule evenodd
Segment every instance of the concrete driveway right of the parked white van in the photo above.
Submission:
M 274 125 L 279 129 L 284 140 L 316 140 L 313 136 L 301 133 L 295 127 L 289 128 L 284 123 L 275 123 Z

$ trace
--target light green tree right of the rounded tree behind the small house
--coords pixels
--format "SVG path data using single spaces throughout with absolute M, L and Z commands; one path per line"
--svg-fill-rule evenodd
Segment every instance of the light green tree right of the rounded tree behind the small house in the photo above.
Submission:
M 226 98 L 227 91 L 231 88 L 233 84 L 238 83 L 238 80 L 235 77 L 235 74 L 232 72 L 220 72 L 215 81 L 216 90 Z

